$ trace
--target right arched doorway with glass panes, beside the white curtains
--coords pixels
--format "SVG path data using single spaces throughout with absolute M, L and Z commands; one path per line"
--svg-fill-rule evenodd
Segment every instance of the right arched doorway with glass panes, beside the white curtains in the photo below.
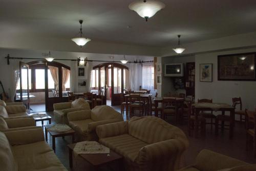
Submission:
M 96 65 L 92 71 L 92 91 L 104 90 L 104 103 L 111 100 L 111 106 L 120 105 L 121 93 L 127 87 L 129 68 L 125 65 L 108 62 Z M 95 81 L 94 81 L 95 80 Z

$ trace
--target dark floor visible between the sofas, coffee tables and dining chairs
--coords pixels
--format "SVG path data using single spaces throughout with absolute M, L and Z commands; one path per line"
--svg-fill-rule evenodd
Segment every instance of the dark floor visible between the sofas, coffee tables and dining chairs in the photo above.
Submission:
M 120 112 L 120 106 L 113 106 L 114 109 Z M 49 112 L 49 115 L 53 115 L 53 112 Z M 124 119 L 126 116 L 124 114 Z M 53 121 L 54 122 L 54 121 Z M 183 124 L 176 124 L 174 118 L 169 118 L 168 122 L 179 128 L 181 128 L 187 134 L 187 124 L 184 121 Z M 40 122 L 37 124 L 40 125 Z M 46 124 L 46 123 L 45 123 Z M 219 136 L 215 136 L 214 130 L 210 130 L 207 127 L 206 136 L 201 138 L 189 137 L 189 148 L 185 151 L 183 165 L 192 164 L 195 161 L 197 154 L 202 149 L 209 149 L 224 155 L 228 155 L 248 163 L 256 163 L 256 159 L 253 158 L 253 152 L 245 151 L 245 128 L 243 124 L 236 123 L 234 127 L 234 137 L 232 140 L 229 138 L 228 130 L 223 133 L 219 133 Z M 49 143 L 51 145 L 51 137 L 49 136 Z M 69 168 L 69 154 L 67 144 L 71 143 L 71 137 L 56 138 L 56 155 L 60 161 L 70 170 Z

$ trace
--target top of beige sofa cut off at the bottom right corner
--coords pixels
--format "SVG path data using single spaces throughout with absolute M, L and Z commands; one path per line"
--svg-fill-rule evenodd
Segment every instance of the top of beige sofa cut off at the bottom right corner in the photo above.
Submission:
M 248 164 L 209 150 L 202 150 L 193 166 L 187 166 L 179 171 L 254 171 L 256 164 Z

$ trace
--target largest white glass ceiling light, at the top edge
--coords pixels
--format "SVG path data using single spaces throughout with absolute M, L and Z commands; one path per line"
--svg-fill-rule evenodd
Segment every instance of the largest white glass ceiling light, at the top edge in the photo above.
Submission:
M 146 19 L 154 16 L 158 11 L 164 9 L 165 5 L 155 0 L 135 1 L 129 5 L 129 8 Z

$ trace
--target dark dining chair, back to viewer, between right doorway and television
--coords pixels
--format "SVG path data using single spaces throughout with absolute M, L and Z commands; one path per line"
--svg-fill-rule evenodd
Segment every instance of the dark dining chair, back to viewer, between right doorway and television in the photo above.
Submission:
M 139 116 L 143 115 L 144 102 L 143 102 L 140 94 L 130 94 L 129 102 L 130 102 L 130 117 L 134 116 L 135 110 L 139 111 Z

